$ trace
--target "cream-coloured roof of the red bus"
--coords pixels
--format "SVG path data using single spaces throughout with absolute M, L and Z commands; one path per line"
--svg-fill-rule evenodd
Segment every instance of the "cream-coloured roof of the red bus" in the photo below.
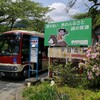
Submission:
M 40 33 L 37 31 L 11 30 L 11 31 L 4 32 L 4 34 L 7 34 L 7 33 L 22 33 L 22 34 L 27 34 L 27 35 L 38 36 L 38 37 L 44 38 L 44 33 Z

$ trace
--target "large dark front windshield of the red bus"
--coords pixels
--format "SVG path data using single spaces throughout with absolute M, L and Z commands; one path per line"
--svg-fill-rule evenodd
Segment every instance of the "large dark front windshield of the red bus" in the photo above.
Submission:
M 20 34 L 0 34 L 0 55 L 18 55 Z

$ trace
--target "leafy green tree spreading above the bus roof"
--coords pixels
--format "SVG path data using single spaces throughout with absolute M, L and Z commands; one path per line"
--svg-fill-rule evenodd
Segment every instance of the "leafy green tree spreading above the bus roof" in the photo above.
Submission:
M 48 7 L 31 0 L 0 0 L 0 24 L 11 30 L 18 19 L 46 21 L 45 14 L 49 11 Z

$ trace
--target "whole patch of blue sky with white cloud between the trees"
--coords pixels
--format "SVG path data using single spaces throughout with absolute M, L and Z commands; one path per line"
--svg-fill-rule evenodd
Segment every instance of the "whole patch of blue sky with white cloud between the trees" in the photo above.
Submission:
M 87 11 L 85 4 L 88 6 L 92 5 L 92 2 L 88 0 L 77 0 L 73 8 L 70 9 L 69 13 L 66 13 L 65 8 L 70 0 L 33 0 L 35 2 L 41 3 L 43 6 L 49 6 L 50 8 L 55 8 L 55 10 L 48 13 L 54 22 L 71 20 L 71 15 L 77 13 L 83 13 Z

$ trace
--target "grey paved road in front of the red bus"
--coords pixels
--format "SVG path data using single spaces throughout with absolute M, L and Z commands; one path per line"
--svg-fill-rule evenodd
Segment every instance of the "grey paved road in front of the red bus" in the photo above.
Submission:
M 40 74 L 39 78 L 46 75 L 47 73 Z M 19 91 L 22 90 L 24 84 L 24 80 L 0 77 L 0 100 L 22 100 L 21 98 L 19 99 L 18 95 L 21 96 Z

